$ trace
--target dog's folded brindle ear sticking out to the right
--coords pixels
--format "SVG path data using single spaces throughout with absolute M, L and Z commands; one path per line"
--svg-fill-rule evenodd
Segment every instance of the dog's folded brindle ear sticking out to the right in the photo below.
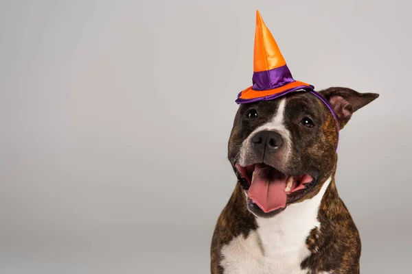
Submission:
M 350 88 L 333 87 L 319 91 L 330 103 L 339 121 L 340 129 L 346 125 L 356 110 L 364 107 L 374 99 L 377 93 L 360 93 Z

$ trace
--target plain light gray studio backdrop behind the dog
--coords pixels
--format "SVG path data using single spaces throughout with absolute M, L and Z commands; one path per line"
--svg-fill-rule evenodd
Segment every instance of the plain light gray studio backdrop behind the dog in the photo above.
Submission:
M 0 1 L 0 273 L 209 273 L 255 9 L 341 132 L 362 273 L 409 273 L 409 1 Z

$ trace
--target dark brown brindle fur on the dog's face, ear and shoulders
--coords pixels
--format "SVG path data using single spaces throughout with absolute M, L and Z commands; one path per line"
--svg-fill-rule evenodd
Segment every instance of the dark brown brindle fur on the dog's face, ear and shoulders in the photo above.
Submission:
M 341 129 L 349 121 L 354 111 L 378 97 L 374 93 L 361 94 L 349 88 L 328 88 L 320 93 L 332 104 Z M 336 103 L 336 98 L 341 99 L 341 101 L 338 100 Z M 288 123 L 286 126 L 294 132 L 293 155 L 299 155 L 291 160 L 292 164 L 290 164 L 288 171 L 290 173 L 301 172 L 308 169 L 309 166 L 319 166 L 321 171 L 318 184 L 304 197 L 293 201 L 293 203 L 311 199 L 319 192 L 323 182 L 328 177 L 332 177 L 332 182 L 323 195 L 318 212 L 317 218 L 321 223 L 320 228 L 312 229 L 308 235 L 306 246 L 311 253 L 301 262 L 301 269 L 307 270 L 308 274 L 321 273 L 322 271 L 334 274 L 359 273 L 361 238 L 349 211 L 339 198 L 334 182 L 337 162 L 335 149 L 338 141 L 336 122 L 328 108 L 317 97 L 308 92 L 293 92 L 293 94 L 287 95 L 287 100 L 289 110 L 287 115 L 289 116 L 285 117 L 285 121 Z M 277 100 L 240 105 L 229 138 L 229 160 L 232 165 L 236 160 L 242 141 L 253 132 L 253 129 L 266 123 L 269 119 L 268 116 L 264 116 L 252 123 L 242 120 L 242 115 L 251 108 L 258 108 L 261 113 L 273 113 L 277 105 Z M 294 128 L 297 127 L 296 121 L 301 119 L 307 110 L 310 110 L 312 119 L 321 125 L 319 130 L 312 134 L 302 132 L 305 129 Z M 211 273 L 213 274 L 220 274 L 224 271 L 220 266 L 222 247 L 234 237 L 243 235 L 246 238 L 252 230 L 257 229 L 255 216 L 245 206 L 247 201 L 241 185 L 241 180 L 238 180 L 238 184 L 236 184 L 225 209 L 222 210 L 214 230 L 211 241 Z

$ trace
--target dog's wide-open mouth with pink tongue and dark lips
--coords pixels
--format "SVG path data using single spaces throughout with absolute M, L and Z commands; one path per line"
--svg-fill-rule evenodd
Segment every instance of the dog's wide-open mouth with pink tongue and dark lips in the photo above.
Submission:
M 286 203 L 303 197 L 315 184 L 312 175 L 290 176 L 267 164 L 240 166 L 236 163 L 235 166 L 248 202 L 265 214 L 284 210 Z

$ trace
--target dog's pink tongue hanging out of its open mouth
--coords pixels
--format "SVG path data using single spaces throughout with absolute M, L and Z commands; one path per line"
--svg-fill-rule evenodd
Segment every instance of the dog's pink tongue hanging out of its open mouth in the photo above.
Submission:
M 271 167 L 256 165 L 248 196 L 268 213 L 286 206 L 285 188 L 286 175 Z

